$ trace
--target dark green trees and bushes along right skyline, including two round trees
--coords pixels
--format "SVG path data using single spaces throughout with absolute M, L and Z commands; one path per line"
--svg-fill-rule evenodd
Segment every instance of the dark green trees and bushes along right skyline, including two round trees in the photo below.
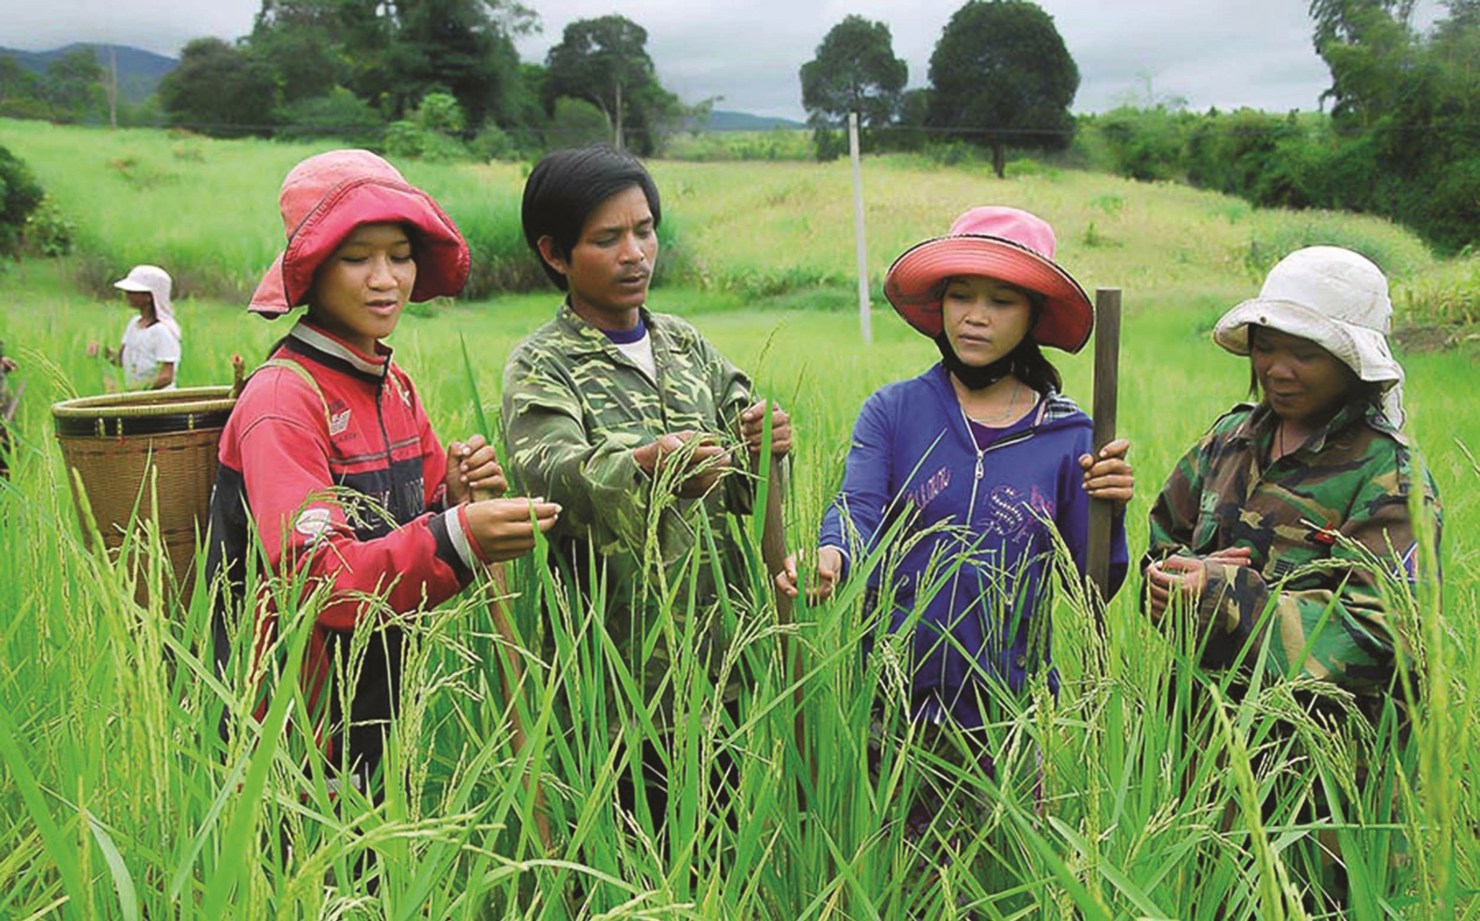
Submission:
M 889 28 L 848 16 L 801 67 L 818 157 L 845 150 L 858 113 L 866 150 L 966 145 L 990 154 L 1089 151 L 1135 179 L 1184 181 L 1262 206 L 1368 212 L 1439 249 L 1480 237 L 1480 0 L 1443 0 L 1427 33 L 1413 0 L 1311 0 L 1332 86 L 1325 114 L 1196 114 L 1146 99 L 1073 117 L 1079 71 L 1052 18 L 1027 0 L 969 0 L 946 24 L 929 84 L 906 90 Z

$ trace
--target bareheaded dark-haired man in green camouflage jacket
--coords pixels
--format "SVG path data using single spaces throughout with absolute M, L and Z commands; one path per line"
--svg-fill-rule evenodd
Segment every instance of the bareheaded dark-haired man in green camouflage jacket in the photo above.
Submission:
M 758 465 L 767 403 L 691 324 L 647 308 L 662 207 L 641 163 L 610 147 L 552 153 L 530 173 L 522 219 L 530 249 L 567 298 L 505 367 L 508 471 L 561 503 L 552 558 L 580 591 L 604 592 L 607 629 L 651 697 L 681 653 L 718 665 L 716 628 L 703 631 L 700 650 L 667 649 L 682 625 L 657 631 L 650 652 L 644 640 L 670 583 L 687 583 L 688 563 L 697 563 L 694 610 L 710 613 L 713 567 L 691 558 L 706 545 L 702 518 L 736 583 L 743 557 L 728 518 L 752 511 L 747 471 Z M 770 409 L 780 458 L 790 421 Z M 666 607 L 684 612 L 687 603 Z

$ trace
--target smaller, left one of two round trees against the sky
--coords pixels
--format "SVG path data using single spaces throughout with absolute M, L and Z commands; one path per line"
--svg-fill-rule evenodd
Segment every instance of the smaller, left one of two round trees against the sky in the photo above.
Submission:
M 813 127 L 841 124 L 848 113 L 864 127 L 884 126 L 898 113 L 909 76 L 888 25 L 847 16 L 801 68 L 802 108 Z

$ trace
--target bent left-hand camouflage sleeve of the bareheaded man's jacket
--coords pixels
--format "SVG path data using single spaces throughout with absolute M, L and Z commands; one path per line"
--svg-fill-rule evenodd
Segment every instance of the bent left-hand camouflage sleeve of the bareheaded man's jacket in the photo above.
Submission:
M 574 382 L 534 349 L 519 348 L 503 375 L 508 469 L 519 490 L 561 503 L 555 535 L 589 539 L 596 549 L 641 546 L 650 478 L 632 450 L 636 432 L 592 441 Z

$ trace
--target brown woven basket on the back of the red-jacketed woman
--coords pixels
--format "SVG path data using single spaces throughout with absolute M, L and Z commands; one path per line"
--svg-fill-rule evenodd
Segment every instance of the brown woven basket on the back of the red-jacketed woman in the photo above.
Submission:
M 104 394 L 53 404 L 56 440 L 89 543 L 73 471 L 110 551 L 123 546 L 138 533 L 130 529 L 151 520 L 158 508 L 155 526 L 175 585 L 182 597 L 188 594 L 197 535 L 206 533 L 209 521 L 216 447 L 234 404 L 231 386 Z

